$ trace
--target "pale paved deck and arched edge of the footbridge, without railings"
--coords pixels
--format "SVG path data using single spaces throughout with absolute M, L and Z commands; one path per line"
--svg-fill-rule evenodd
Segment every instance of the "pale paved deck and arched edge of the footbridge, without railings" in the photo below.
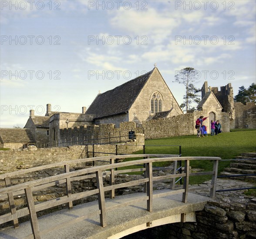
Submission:
M 166 191 L 169 190 L 154 190 L 154 194 Z M 106 199 L 106 206 L 114 206 L 121 202 L 130 201 L 139 195 L 141 196 L 141 194 L 143 193 L 133 193 L 117 196 L 115 199 Z M 42 239 L 120 238 L 125 236 L 122 232 L 127 229 L 130 231 L 129 233 L 125 232 L 126 235 L 146 229 L 148 226 L 153 227 L 166 223 L 180 222 L 181 213 L 187 214 L 186 221 L 193 222 L 195 221 L 195 213 L 193 212 L 202 210 L 209 199 L 209 197 L 189 193 L 188 202 L 183 203 L 182 194 L 176 194 L 153 199 L 153 212 L 146 211 L 146 201 L 136 203 L 134 206 L 107 210 L 105 213 L 107 226 L 104 228 L 100 226 L 98 201 L 87 202 L 74 206 L 71 210 L 63 209 L 38 218 L 39 227 L 40 231 L 47 231 L 52 226 L 55 227 L 54 231 L 45 234 Z M 83 215 L 88 215 L 88 219 L 73 224 L 69 223 L 70 220 Z M 60 224 L 66 224 L 66 226 L 58 229 Z M 20 239 L 27 237 L 31 233 L 30 222 L 24 222 L 17 229 L 13 229 L 13 227 L 2 229 L 0 238 Z M 112 235 L 116 236 L 111 237 Z

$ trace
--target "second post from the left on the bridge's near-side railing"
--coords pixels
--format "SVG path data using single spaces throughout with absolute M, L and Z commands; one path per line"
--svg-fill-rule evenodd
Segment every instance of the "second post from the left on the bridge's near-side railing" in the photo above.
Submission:
M 98 203 L 99 203 L 99 209 L 101 210 L 101 214 L 100 214 L 101 226 L 105 227 L 107 226 L 107 222 L 105 218 L 105 196 L 104 196 L 104 186 L 103 186 L 101 170 L 98 170 L 96 172 L 96 181 L 97 181 L 97 188 L 99 189 Z

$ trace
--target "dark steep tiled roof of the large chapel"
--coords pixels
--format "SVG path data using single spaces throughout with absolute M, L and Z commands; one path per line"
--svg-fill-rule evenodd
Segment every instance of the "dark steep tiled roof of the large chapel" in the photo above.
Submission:
M 121 86 L 115 87 L 113 90 L 99 93 L 86 111 L 86 114 L 94 114 L 96 118 L 102 118 L 127 112 L 154 69 Z

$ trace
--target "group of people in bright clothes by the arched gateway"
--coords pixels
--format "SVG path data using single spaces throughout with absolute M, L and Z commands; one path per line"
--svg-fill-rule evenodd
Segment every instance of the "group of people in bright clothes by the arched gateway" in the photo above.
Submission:
M 203 123 L 207 118 L 208 117 L 204 118 L 204 116 L 200 116 L 195 122 L 195 128 L 197 129 L 198 138 L 200 138 L 200 133 L 202 137 L 208 136 L 207 127 Z M 221 124 L 219 123 L 219 120 L 211 120 L 211 136 L 214 136 L 214 134 L 218 135 L 221 132 Z

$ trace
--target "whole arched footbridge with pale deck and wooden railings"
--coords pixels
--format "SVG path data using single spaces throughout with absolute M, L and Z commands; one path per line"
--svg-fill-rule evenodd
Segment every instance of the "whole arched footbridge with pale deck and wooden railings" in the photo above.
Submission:
M 115 163 L 115 159 L 143 159 Z M 108 164 L 93 166 L 70 172 L 69 166 L 91 161 L 109 161 Z M 184 173 L 176 171 L 177 161 L 184 161 Z M 191 160 L 213 160 L 211 172 L 189 173 Z M 195 221 L 195 211 L 202 210 L 209 197 L 189 193 L 189 177 L 197 175 L 212 175 L 209 196 L 215 197 L 218 171 L 218 157 L 178 157 L 177 155 L 122 155 L 104 156 L 89 159 L 77 159 L 44 165 L 30 169 L 2 174 L 6 187 L 1 189 L 0 199 L 7 199 L 10 212 L 0 216 L 0 223 L 13 222 L 13 226 L 3 228 L 0 238 L 15 239 L 58 239 L 58 238 L 121 238 L 125 235 L 172 222 Z M 153 176 L 155 162 L 171 162 L 174 165 L 172 174 Z M 142 168 L 117 170 L 124 166 L 142 165 Z M 34 181 L 12 185 L 12 178 L 24 173 L 37 172 L 54 167 L 64 167 L 64 173 L 55 176 L 36 179 Z M 128 172 L 144 172 L 144 178 L 126 183 L 115 182 L 115 174 Z M 109 175 L 109 185 L 103 184 L 103 178 Z M 183 188 L 175 190 L 175 178 L 183 178 Z M 79 193 L 71 193 L 74 181 L 96 179 L 97 188 Z M 172 179 L 170 189 L 154 190 L 153 182 Z M 65 184 L 64 196 L 46 202 L 35 204 L 33 192 L 40 191 L 59 184 Z M 115 190 L 131 186 L 144 185 L 144 192 L 116 196 Z M 206 188 L 205 187 L 205 188 Z M 200 187 L 202 189 L 202 187 Z M 106 198 L 110 192 L 110 198 Z M 98 201 L 87 202 L 73 207 L 73 201 L 92 195 L 98 195 Z M 105 195 L 106 194 L 106 195 Z M 25 195 L 27 207 L 16 209 L 14 198 Z M 67 204 L 63 209 L 37 218 L 37 212 L 49 210 L 52 207 Z M 73 208 L 73 209 L 72 209 Z M 72 209 L 72 210 L 70 210 Z M 18 223 L 22 216 L 30 216 L 30 222 Z

